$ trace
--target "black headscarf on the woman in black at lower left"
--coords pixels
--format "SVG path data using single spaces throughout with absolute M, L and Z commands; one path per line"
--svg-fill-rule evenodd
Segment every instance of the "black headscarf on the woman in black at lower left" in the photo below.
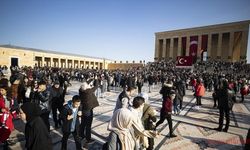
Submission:
M 21 106 L 21 109 L 26 115 L 27 122 L 31 121 L 37 116 L 40 116 L 41 114 L 41 108 L 35 103 L 30 103 L 30 102 L 24 103 Z

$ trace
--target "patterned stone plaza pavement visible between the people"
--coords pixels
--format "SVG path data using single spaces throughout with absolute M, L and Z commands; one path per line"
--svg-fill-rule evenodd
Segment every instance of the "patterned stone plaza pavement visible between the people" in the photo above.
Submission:
M 78 94 L 80 87 L 79 82 L 73 81 L 72 86 L 68 89 L 66 99 L 69 100 L 73 95 Z M 153 88 L 149 95 L 149 102 L 157 111 L 159 119 L 159 110 L 162 100 L 159 94 L 160 85 Z M 147 92 L 146 84 L 143 91 Z M 99 150 L 109 135 L 107 124 L 113 114 L 116 99 L 121 92 L 120 88 L 112 89 L 111 92 L 106 92 L 104 98 L 98 98 L 100 106 L 94 109 L 94 120 L 92 124 L 92 138 L 95 143 L 86 145 L 83 140 L 83 147 L 90 150 Z M 135 91 L 134 96 L 136 96 Z M 230 127 L 227 133 L 218 132 L 213 128 L 218 127 L 219 112 L 213 108 L 212 92 L 207 92 L 202 98 L 202 107 L 196 109 L 193 92 L 187 90 L 184 97 L 183 110 L 179 115 L 172 115 L 174 133 L 176 138 L 168 137 L 168 124 L 165 121 L 158 127 L 160 135 L 155 139 L 155 149 L 161 150 L 199 150 L 199 149 L 225 149 L 238 150 L 243 149 L 246 134 L 250 128 L 250 97 L 245 99 L 244 103 L 235 103 L 233 113 L 230 115 Z M 237 97 L 239 101 L 239 97 Z M 54 123 L 51 121 L 51 125 Z M 60 150 L 62 134 L 60 129 L 55 130 L 51 126 L 51 135 L 53 137 L 53 146 L 55 150 Z M 24 140 L 24 124 L 20 120 L 15 120 L 16 130 L 11 134 L 11 139 L 16 141 L 16 144 L 11 145 L 13 150 L 23 149 Z M 1 148 L 1 147 L 0 147 Z M 74 150 L 75 143 L 73 137 L 68 141 L 68 149 Z

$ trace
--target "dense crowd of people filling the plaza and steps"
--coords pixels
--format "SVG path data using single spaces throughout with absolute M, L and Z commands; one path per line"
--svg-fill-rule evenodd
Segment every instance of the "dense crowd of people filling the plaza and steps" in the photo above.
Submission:
M 108 124 L 110 131 L 103 149 L 131 150 L 154 149 L 154 138 L 159 135 L 157 127 L 166 119 L 169 137 L 176 137 L 172 128 L 172 112 L 182 111 L 183 97 L 191 87 L 196 98 L 196 109 L 202 107 L 206 91 L 213 91 L 214 108 L 219 109 L 218 131 L 227 132 L 230 111 L 234 103 L 244 103 L 250 92 L 250 66 L 245 62 L 198 62 L 191 69 L 175 67 L 172 60 L 148 63 L 144 67 L 129 70 L 62 69 L 51 67 L 0 66 L 0 143 L 8 149 L 8 137 L 14 130 L 12 120 L 21 118 L 26 122 L 25 147 L 28 150 L 52 149 L 49 115 L 52 113 L 56 129 L 62 129 L 62 150 L 72 133 L 77 150 L 82 149 L 81 140 L 87 144 L 91 138 L 93 109 L 99 106 L 98 98 L 105 92 L 121 88 L 113 116 Z M 66 101 L 71 81 L 81 83 L 79 93 Z M 150 106 L 148 94 L 160 84 L 162 108 L 157 121 L 156 110 Z M 142 92 L 147 85 L 148 91 Z M 137 89 L 137 90 L 135 90 Z M 132 98 L 132 93 L 138 93 Z M 240 101 L 236 95 L 241 95 Z M 224 116 L 226 125 L 223 128 Z M 4 134 L 3 134 L 4 133 Z M 4 136 L 3 136 L 4 135 Z M 247 145 L 247 144 L 246 144 Z

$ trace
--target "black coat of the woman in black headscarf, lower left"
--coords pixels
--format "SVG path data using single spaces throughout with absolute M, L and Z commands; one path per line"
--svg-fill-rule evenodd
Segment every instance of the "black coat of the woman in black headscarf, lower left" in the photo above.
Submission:
M 46 125 L 35 117 L 25 126 L 25 147 L 27 150 L 52 150 L 52 142 Z

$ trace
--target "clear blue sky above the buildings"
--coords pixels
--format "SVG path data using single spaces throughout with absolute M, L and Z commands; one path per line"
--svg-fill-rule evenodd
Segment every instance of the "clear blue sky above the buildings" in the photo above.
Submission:
M 250 20 L 250 0 L 1 0 L 0 44 L 153 61 L 155 32 Z

